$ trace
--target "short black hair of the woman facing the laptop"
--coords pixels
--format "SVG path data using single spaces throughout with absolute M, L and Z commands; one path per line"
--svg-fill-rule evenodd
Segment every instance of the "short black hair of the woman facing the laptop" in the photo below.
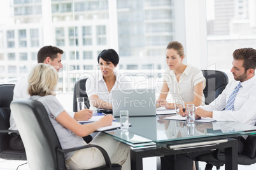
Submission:
M 98 63 L 99 58 L 102 58 L 106 62 L 111 62 L 113 65 L 118 65 L 119 63 L 119 56 L 115 49 L 104 49 L 98 56 Z

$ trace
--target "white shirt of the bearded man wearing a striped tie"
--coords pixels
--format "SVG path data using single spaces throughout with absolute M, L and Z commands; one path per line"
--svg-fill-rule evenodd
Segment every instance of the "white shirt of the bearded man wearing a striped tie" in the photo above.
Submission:
M 213 112 L 213 119 L 216 121 L 236 121 L 254 125 L 256 122 L 256 109 L 254 106 L 256 103 L 256 76 L 241 82 L 242 87 L 236 95 L 233 110 L 223 110 L 227 104 L 229 96 L 238 83 L 239 81 L 232 81 L 227 84 L 226 88 L 218 98 L 209 105 L 201 108 Z

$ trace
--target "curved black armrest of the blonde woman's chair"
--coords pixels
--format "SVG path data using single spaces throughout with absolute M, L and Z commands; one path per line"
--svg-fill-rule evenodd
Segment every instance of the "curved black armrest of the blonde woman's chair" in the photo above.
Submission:
M 106 150 L 104 150 L 104 148 L 100 147 L 99 145 L 90 145 L 89 144 L 89 145 L 83 145 L 81 147 L 68 148 L 68 149 L 57 148 L 57 151 L 64 154 L 67 152 L 72 152 L 72 151 L 81 150 L 84 148 L 91 148 L 91 147 L 95 147 L 95 148 L 99 149 L 99 151 L 101 151 L 101 153 L 103 154 L 104 160 L 106 162 L 106 169 L 111 169 L 112 166 L 111 166 L 110 157 L 108 156 L 108 153 L 106 152 Z

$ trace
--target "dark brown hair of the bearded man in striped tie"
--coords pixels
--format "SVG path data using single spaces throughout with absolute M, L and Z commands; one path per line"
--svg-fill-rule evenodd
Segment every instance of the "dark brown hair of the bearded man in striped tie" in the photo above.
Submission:
M 256 49 L 240 48 L 233 53 L 234 60 L 243 60 L 245 71 L 248 69 L 256 69 Z

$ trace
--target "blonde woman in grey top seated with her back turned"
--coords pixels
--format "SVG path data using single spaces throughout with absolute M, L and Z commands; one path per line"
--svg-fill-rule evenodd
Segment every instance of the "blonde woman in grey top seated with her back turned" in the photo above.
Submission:
M 103 126 L 112 124 L 113 117 L 106 115 L 99 121 L 80 124 L 60 105 L 55 98 L 55 87 L 59 80 L 56 69 L 51 65 L 39 63 L 29 75 L 29 95 L 32 100 L 40 101 L 52 122 L 60 145 L 63 149 L 87 145 L 82 136 L 87 136 Z M 98 133 L 90 142 L 103 147 L 110 156 L 111 163 L 120 164 L 122 169 L 131 169 L 130 149 L 124 143 L 114 140 L 111 136 Z M 105 164 L 103 155 L 95 148 L 87 148 L 65 154 L 67 169 L 91 169 Z

